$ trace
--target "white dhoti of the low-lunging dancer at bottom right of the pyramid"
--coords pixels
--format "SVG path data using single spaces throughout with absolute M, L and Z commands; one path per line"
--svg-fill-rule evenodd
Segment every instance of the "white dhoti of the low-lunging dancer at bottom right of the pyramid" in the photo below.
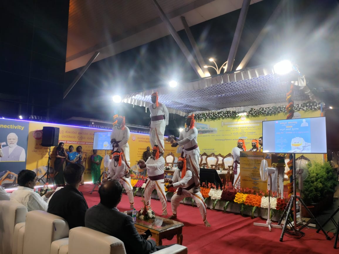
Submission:
M 192 197 L 194 199 L 195 203 L 197 204 L 197 207 L 199 208 L 202 220 L 205 222 L 207 215 L 206 204 L 200 191 L 197 193 L 193 193 L 192 189 L 190 191 L 183 189 L 181 195 L 178 195 L 177 191 L 174 193 L 174 195 L 171 198 L 171 207 L 173 215 L 177 215 L 177 208 L 180 204 L 180 201 L 185 197 Z

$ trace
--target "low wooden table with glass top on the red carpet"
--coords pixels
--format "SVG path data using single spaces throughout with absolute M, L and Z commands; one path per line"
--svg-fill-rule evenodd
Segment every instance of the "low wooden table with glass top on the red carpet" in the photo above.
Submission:
M 135 227 L 138 232 L 145 232 L 147 229 L 152 232 L 152 238 L 155 238 L 157 245 L 162 245 L 162 239 L 172 240 L 177 235 L 177 244 L 182 245 L 182 227 L 183 223 L 155 216 L 153 220 L 141 220 L 137 218 Z

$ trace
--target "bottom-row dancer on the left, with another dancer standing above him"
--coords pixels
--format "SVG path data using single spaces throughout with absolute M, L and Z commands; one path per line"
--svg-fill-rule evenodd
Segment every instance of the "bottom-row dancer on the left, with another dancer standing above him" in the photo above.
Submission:
M 133 187 L 131 184 L 131 173 L 127 168 L 125 162 L 121 160 L 122 153 L 118 151 L 113 152 L 113 160 L 108 165 L 108 177 L 103 180 L 103 182 L 107 182 L 108 180 L 117 179 L 119 183 L 125 188 L 129 205 L 131 209 L 134 208 L 134 196 L 133 196 Z

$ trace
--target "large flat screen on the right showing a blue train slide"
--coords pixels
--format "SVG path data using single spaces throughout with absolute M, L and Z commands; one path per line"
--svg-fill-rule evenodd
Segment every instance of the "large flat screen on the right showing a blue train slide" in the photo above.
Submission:
M 263 152 L 327 153 L 324 117 L 262 122 Z

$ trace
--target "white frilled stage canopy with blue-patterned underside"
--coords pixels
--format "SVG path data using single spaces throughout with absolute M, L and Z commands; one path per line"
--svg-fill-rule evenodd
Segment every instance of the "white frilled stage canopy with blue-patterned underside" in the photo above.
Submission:
M 273 68 L 260 67 L 181 83 L 175 88 L 166 86 L 127 94 L 122 102 L 148 107 L 151 94 L 157 91 L 159 102 L 166 105 L 169 113 L 183 116 L 218 110 L 239 112 L 262 106 L 287 105 L 286 93 L 289 90 L 290 85 L 275 77 Z M 293 100 L 295 103 L 315 100 L 303 77 L 294 82 Z

